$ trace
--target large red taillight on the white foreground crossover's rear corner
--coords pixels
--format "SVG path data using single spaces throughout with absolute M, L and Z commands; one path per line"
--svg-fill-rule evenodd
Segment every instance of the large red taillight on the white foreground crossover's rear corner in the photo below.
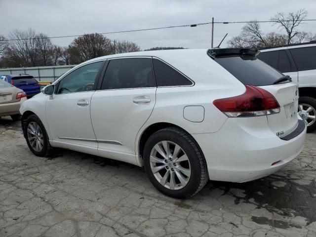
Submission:
M 245 87 L 242 95 L 214 100 L 213 104 L 227 117 L 256 117 L 280 112 L 280 106 L 270 92 L 253 85 Z

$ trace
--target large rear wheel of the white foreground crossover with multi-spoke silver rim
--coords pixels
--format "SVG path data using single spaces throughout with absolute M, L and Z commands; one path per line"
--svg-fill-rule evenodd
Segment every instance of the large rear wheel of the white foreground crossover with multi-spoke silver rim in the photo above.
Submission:
M 191 197 L 208 181 L 206 162 L 196 141 L 176 127 L 161 129 L 149 137 L 144 166 L 155 188 L 170 197 Z

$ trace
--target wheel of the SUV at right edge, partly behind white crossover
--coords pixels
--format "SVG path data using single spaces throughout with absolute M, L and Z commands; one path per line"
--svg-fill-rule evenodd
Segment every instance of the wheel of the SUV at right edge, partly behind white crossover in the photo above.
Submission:
M 316 99 L 313 97 L 302 96 L 299 98 L 298 114 L 307 124 L 307 132 L 316 129 Z

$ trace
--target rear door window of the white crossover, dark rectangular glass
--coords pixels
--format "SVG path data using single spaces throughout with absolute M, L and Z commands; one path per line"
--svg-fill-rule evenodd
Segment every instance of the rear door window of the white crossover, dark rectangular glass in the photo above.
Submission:
M 101 89 L 153 87 L 155 85 L 150 58 L 123 58 L 109 62 Z

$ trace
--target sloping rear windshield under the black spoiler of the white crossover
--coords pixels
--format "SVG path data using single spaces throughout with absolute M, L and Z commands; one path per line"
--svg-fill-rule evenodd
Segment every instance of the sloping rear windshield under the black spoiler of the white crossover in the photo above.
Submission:
M 272 85 L 283 75 L 253 56 L 234 55 L 214 59 L 245 85 Z

